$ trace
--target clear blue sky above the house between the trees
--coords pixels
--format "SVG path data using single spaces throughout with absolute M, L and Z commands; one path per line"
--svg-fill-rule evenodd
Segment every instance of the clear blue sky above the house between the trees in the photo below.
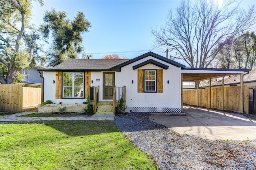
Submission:
M 245 0 L 242 5 L 247 7 L 252 3 L 255 1 Z M 82 11 L 92 25 L 89 32 L 83 34 L 83 45 L 87 54 L 98 59 L 104 54 L 128 51 L 117 54 L 120 57 L 134 58 L 153 48 L 151 28 L 162 26 L 168 10 L 175 10 L 178 4 L 180 0 L 44 0 L 42 7 L 38 2 L 33 2 L 32 22 L 39 26 L 44 11 L 51 8 L 65 11 L 70 19 L 78 11 Z M 151 51 L 166 56 L 165 49 Z

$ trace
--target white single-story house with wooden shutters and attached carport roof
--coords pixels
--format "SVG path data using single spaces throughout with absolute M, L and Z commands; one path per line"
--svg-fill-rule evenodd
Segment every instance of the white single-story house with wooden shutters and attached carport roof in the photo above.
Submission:
M 114 87 L 124 87 L 126 112 L 182 112 L 182 81 L 244 73 L 236 69 L 195 69 L 148 52 L 134 59 L 69 59 L 44 73 L 44 101 L 81 104 L 90 87 L 99 101 L 113 101 Z M 209 74 L 209 75 L 208 75 Z M 118 97 L 117 97 L 118 98 Z

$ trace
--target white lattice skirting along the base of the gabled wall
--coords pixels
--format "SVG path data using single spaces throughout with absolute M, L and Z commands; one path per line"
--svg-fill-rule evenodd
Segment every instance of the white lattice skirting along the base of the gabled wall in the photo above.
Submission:
M 181 113 L 181 106 L 175 104 L 126 104 L 125 111 L 128 113 Z

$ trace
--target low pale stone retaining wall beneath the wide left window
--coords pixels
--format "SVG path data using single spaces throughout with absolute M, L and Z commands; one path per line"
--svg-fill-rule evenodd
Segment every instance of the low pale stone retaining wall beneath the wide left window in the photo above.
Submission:
M 47 104 L 44 106 L 38 105 L 38 113 L 58 113 L 59 107 L 63 108 L 66 107 L 66 113 L 81 113 L 84 112 L 84 108 L 87 105 L 77 105 L 77 104 Z

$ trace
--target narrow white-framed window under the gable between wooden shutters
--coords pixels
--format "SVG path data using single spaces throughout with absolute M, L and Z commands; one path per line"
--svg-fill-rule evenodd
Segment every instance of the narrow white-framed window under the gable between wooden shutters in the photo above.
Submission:
M 144 91 L 156 92 L 156 70 L 144 70 Z

